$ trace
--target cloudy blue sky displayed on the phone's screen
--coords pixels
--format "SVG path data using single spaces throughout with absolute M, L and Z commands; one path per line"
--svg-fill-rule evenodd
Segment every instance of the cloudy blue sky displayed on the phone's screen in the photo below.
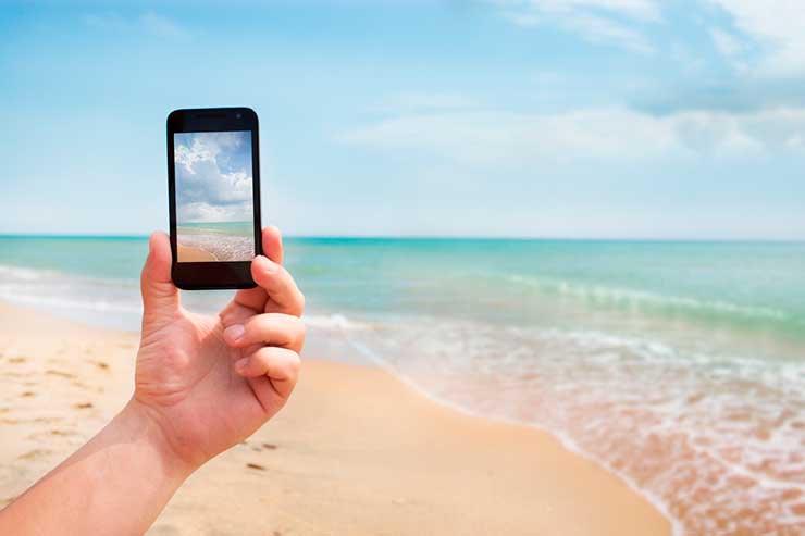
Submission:
M 252 222 L 251 133 L 176 133 L 176 222 Z

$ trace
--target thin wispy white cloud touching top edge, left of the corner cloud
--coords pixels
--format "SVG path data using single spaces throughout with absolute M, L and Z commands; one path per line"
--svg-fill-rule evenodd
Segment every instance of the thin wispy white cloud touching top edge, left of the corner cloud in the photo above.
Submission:
M 636 26 L 661 21 L 659 4 L 653 0 L 508 0 L 496 3 L 515 24 L 556 24 L 590 42 L 609 43 L 643 54 L 654 53 L 655 48 Z

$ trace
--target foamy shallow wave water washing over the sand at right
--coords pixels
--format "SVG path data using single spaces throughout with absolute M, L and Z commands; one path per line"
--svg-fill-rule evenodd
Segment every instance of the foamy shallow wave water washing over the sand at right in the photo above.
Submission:
M 442 403 L 554 433 L 639 489 L 677 534 L 805 526 L 802 361 L 443 317 L 346 336 Z

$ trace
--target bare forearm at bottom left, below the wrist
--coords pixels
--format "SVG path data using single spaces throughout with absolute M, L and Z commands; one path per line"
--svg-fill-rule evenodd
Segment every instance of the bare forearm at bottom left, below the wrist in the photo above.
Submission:
M 191 471 L 132 401 L 0 511 L 0 534 L 143 534 Z

